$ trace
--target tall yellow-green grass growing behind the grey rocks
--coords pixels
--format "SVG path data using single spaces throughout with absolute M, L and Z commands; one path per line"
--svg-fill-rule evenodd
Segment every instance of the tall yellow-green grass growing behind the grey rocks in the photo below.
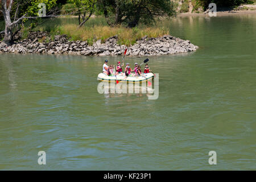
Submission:
M 42 20 L 45 21 L 45 20 Z M 102 16 L 90 18 L 81 28 L 78 26 L 76 17 L 49 19 L 39 23 L 32 31 L 48 31 L 53 36 L 66 34 L 69 40 L 87 40 L 90 45 L 98 39 L 104 42 L 111 36 L 118 36 L 118 44 L 131 46 L 143 36 L 156 38 L 169 34 L 167 28 L 139 26 L 136 28 L 126 28 L 122 26 L 110 27 Z

